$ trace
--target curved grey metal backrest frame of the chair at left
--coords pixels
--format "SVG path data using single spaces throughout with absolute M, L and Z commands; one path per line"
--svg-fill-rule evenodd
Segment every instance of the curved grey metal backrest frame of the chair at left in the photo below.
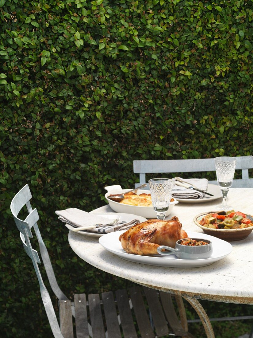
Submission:
M 32 198 L 30 189 L 28 185 L 25 185 L 12 199 L 10 204 L 10 210 L 14 217 L 15 223 L 20 231 L 20 238 L 23 243 L 24 249 L 27 255 L 31 258 L 40 287 L 41 298 L 44 303 L 44 307 L 50 322 L 50 326 L 52 328 L 52 332 L 54 337 L 56 338 L 64 338 L 61 334 L 60 327 L 57 321 L 57 317 L 53 308 L 52 300 L 50 298 L 49 292 L 46 289 L 42 276 L 39 271 L 38 263 L 40 263 L 40 259 L 38 256 L 38 252 L 32 248 L 31 242 L 29 238 L 32 238 L 31 229 L 33 228 L 39 242 L 39 249 L 42 261 L 44 263 L 46 273 L 49 279 L 50 286 L 54 291 L 55 295 L 59 300 L 68 299 L 64 293 L 60 290 L 57 281 L 55 279 L 55 274 L 52 268 L 52 264 L 50 262 L 50 258 L 48 255 L 47 248 L 41 238 L 37 221 L 39 219 L 39 215 L 36 209 L 32 209 L 30 199 Z M 28 215 L 24 220 L 21 220 L 18 215 L 19 212 L 23 209 L 23 207 L 27 208 Z

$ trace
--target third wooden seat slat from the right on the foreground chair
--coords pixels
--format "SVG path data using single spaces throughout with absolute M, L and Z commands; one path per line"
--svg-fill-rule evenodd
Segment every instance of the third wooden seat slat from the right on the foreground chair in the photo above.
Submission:
M 140 287 L 130 288 L 130 296 L 141 337 L 153 338 L 154 332 L 149 321 Z

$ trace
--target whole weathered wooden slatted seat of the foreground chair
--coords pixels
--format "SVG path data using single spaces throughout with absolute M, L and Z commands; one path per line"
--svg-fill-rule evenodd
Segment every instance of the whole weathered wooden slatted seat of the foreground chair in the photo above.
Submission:
M 183 329 L 177 318 L 172 296 L 154 289 L 135 286 L 130 293 L 117 290 L 101 294 L 75 295 L 75 327 L 77 338 L 154 338 L 174 334 L 179 337 L 194 337 Z M 144 294 L 150 308 L 146 310 Z M 115 301 L 116 299 L 116 301 Z M 131 299 L 131 302 L 129 302 Z M 130 303 L 133 304 L 131 309 Z M 164 307 L 163 307 L 164 304 Z M 132 312 L 134 311 L 134 315 Z M 74 338 L 70 300 L 59 301 L 60 328 L 65 338 Z M 150 322 L 151 315 L 152 321 Z M 137 329 L 136 324 L 137 322 Z M 89 329 L 89 322 L 90 327 Z

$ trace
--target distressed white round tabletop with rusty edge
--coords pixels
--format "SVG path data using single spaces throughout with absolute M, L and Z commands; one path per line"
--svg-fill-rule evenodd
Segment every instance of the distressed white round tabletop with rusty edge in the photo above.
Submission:
M 231 188 L 228 204 L 235 211 L 252 215 L 252 195 L 251 188 Z M 214 211 L 221 200 L 193 204 L 179 202 L 167 218 L 177 216 L 186 232 L 202 233 L 201 228 L 193 222 L 194 216 Z M 104 206 L 95 212 L 113 211 L 109 206 Z M 199 299 L 253 304 L 253 232 L 244 240 L 230 242 L 233 251 L 224 259 L 198 268 L 159 267 L 129 262 L 104 249 L 97 237 L 72 231 L 69 231 L 68 240 L 74 252 L 87 263 L 135 283 Z

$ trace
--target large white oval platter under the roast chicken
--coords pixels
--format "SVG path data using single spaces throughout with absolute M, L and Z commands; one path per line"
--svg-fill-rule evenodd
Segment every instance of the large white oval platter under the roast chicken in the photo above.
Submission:
M 175 255 L 139 256 L 139 255 L 127 254 L 125 250 L 123 250 L 121 243 L 119 241 L 119 236 L 122 233 L 124 233 L 124 230 L 106 234 L 99 239 L 99 243 L 106 250 L 112 252 L 118 257 L 123 258 L 127 261 L 135 262 L 135 263 L 175 267 L 175 268 L 197 268 L 200 266 L 206 266 L 214 262 L 217 262 L 232 252 L 232 245 L 226 241 L 223 241 L 222 239 L 209 236 L 206 234 L 200 234 L 200 233 L 188 231 L 187 234 L 190 238 L 208 239 L 209 241 L 213 243 L 212 256 L 210 256 L 209 258 L 205 258 L 205 259 L 179 259 Z

